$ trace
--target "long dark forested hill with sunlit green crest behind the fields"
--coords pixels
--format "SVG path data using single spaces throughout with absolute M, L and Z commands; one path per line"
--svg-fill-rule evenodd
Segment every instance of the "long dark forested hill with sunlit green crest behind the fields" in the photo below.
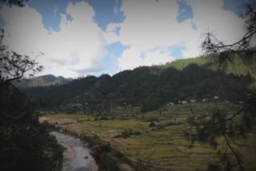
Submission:
M 250 75 L 255 73 L 256 67 L 239 68 L 243 68 L 241 73 L 232 74 L 229 69 L 230 74 L 226 74 L 214 69 L 205 58 L 193 58 L 163 66 L 141 66 L 112 77 L 108 74 L 88 76 L 65 85 L 24 91 L 45 109 L 69 109 L 74 104 L 81 104 L 83 109 L 141 105 L 143 112 L 158 109 L 168 102 L 202 101 L 215 96 L 220 101 L 242 101 L 250 91 L 248 87 L 253 82 Z

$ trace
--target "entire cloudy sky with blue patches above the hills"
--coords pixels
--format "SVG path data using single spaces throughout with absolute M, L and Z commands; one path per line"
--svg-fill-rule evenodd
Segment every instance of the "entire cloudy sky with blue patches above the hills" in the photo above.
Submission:
M 0 9 L 4 43 L 41 74 L 77 78 L 194 58 L 202 34 L 241 38 L 246 0 L 29 0 Z

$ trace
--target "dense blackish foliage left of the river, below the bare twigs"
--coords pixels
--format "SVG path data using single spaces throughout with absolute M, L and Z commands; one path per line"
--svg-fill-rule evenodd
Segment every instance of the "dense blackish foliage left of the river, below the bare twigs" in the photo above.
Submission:
M 30 101 L 8 85 L 0 85 L 0 165 L 2 170 L 55 170 L 62 146 L 38 121 Z

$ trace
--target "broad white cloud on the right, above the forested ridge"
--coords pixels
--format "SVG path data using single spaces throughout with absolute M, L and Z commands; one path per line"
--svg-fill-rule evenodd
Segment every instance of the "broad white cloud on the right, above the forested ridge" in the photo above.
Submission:
M 177 1 L 123 1 L 125 21 L 119 25 L 112 23 L 108 27 L 113 30 L 115 26 L 121 26 L 120 35 L 111 33 L 109 37 L 105 36 L 108 42 L 120 41 L 122 45 L 130 46 L 119 58 L 122 70 L 171 61 L 173 57 L 168 58 L 169 51 L 163 54 L 159 52 L 174 45 L 186 47 L 186 50 L 182 50 L 185 58 L 196 57 L 202 54 L 200 43 L 202 34 L 206 33 L 207 29 L 226 42 L 234 42 L 242 35 L 241 18 L 224 10 L 222 0 L 188 0 L 188 3 L 194 10 L 194 18 L 178 23 Z M 193 29 L 193 23 L 197 25 L 198 30 Z M 153 53 L 150 50 L 155 51 Z

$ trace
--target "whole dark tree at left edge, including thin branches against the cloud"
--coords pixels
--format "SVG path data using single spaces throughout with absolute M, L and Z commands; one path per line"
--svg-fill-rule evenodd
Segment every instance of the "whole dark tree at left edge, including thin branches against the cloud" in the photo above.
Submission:
M 38 121 L 34 104 L 12 82 L 42 70 L 29 56 L 10 51 L 0 35 L 0 165 L 2 170 L 58 170 L 61 145 Z

